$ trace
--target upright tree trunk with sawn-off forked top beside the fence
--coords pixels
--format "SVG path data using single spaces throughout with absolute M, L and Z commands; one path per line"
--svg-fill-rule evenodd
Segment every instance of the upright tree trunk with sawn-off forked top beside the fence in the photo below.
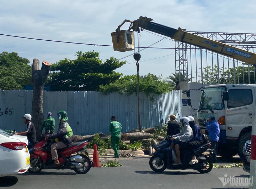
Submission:
M 43 116 L 43 87 L 48 78 L 50 63 L 43 61 L 41 70 L 39 70 L 39 60 L 34 59 L 32 64 L 32 120 L 36 128 L 37 140 L 40 140 L 40 128 L 44 120 Z

